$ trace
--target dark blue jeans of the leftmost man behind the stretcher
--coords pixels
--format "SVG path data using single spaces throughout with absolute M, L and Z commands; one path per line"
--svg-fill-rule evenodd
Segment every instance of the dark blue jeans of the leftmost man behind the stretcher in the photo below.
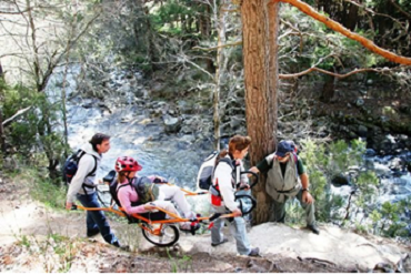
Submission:
M 99 201 L 97 200 L 96 192 L 88 195 L 77 194 L 77 198 L 84 207 L 101 207 Z M 109 244 L 118 241 L 114 234 L 111 232 L 110 225 L 107 222 L 106 215 L 102 211 L 87 211 L 86 223 L 87 231 L 96 231 L 97 228 L 99 228 L 102 237 Z

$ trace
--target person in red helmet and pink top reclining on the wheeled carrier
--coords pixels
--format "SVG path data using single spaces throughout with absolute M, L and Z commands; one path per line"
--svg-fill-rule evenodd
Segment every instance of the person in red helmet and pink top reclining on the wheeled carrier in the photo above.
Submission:
M 158 211 L 156 206 L 158 206 L 180 215 L 174 205 L 170 201 L 166 201 L 171 200 L 177 204 L 186 218 L 196 218 L 196 214 L 191 211 L 184 193 L 178 186 L 164 184 L 166 180 L 160 176 L 139 177 L 137 172 L 141 171 L 142 166 L 133 157 L 118 157 L 114 170 L 118 173 L 116 195 L 118 203 L 120 203 L 119 206 L 127 214 L 156 212 Z M 194 228 L 192 228 L 191 222 L 180 223 L 180 230 L 182 231 L 192 232 L 198 228 L 198 223 L 196 223 Z

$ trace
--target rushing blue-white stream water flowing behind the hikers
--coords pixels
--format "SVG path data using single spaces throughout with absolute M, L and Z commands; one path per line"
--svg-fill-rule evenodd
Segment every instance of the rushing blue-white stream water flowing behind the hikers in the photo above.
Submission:
M 103 155 L 98 177 L 103 177 L 113 170 L 118 156 L 129 155 L 136 157 L 142 165 L 143 170 L 139 175 L 158 174 L 179 186 L 196 190 L 200 164 L 212 151 L 211 141 L 200 147 L 194 145 L 193 136 L 166 134 L 161 119 L 150 118 L 144 104 L 136 104 L 134 100 L 133 94 L 126 93 L 120 105 L 118 98 L 104 99 L 104 102 L 97 104 L 96 100 L 78 98 L 76 103 L 68 103 L 70 146 L 73 150 L 80 147 L 97 132 L 109 134 L 111 150 Z M 101 108 L 110 104 L 110 101 L 112 101 L 110 111 Z M 403 151 L 397 156 L 364 157 L 381 179 L 379 203 L 410 198 L 411 175 L 404 165 L 404 162 L 411 162 L 410 152 Z M 399 162 L 400 165 L 395 165 Z M 333 192 L 341 194 L 349 194 L 350 191 L 349 186 L 333 187 Z

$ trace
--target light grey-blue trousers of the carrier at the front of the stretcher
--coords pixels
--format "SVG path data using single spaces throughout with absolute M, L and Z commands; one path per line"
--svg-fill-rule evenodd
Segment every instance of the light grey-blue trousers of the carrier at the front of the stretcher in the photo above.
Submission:
M 227 213 L 225 206 L 213 206 L 215 213 Z M 214 225 L 211 227 L 211 243 L 218 244 L 224 240 L 222 234 L 222 227 L 227 218 L 217 218 Z M 230 218 L 231 220 L 231 218 Z M 229 222 L 229 221 L 228 221 Z M 241 216 L 234 217 L 229 224 L 230 232 L 235 238 L 237 252 L 240 255 L 249 255 L 251 252 L 251 246 L 249 238 L 247 236 L 245 222 Z

